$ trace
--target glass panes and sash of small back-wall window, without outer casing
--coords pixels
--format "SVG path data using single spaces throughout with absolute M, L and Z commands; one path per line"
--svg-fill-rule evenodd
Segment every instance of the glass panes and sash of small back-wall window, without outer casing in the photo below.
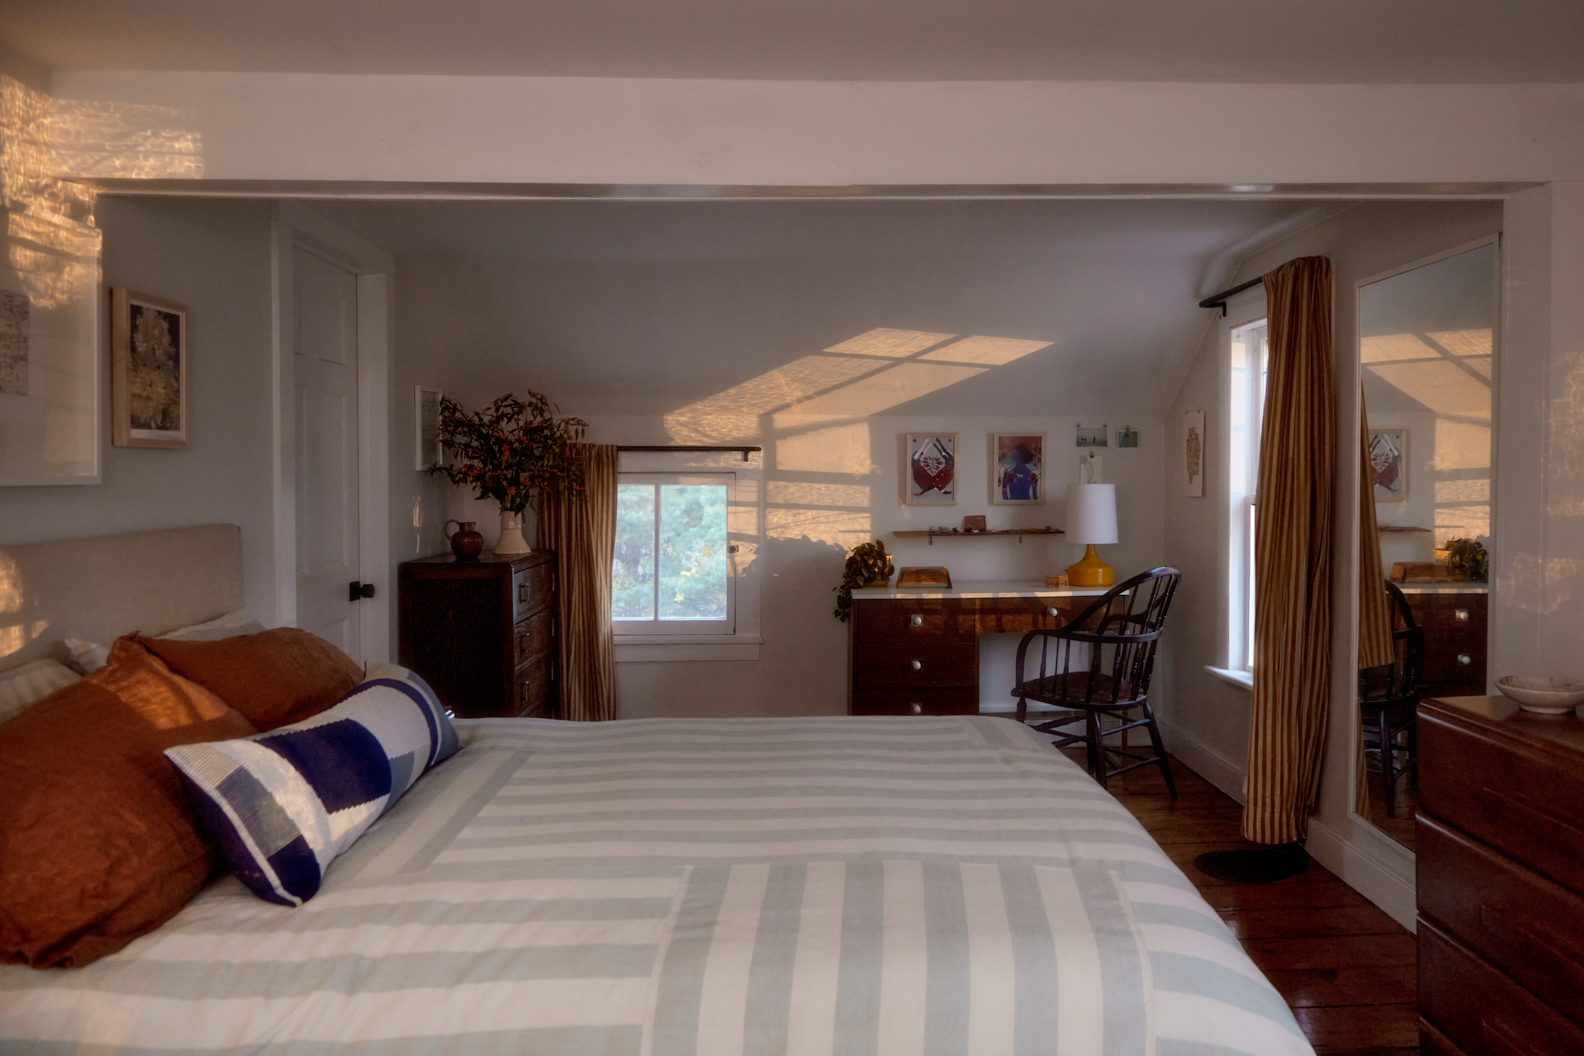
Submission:
M 729 635 L 732 473 L 621 473 L 610 614 L 618 635 Z

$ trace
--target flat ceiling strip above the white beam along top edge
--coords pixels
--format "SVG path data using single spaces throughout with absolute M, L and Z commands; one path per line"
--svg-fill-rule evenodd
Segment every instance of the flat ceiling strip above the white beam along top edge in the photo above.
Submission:
M 51 68 L 1584 82 L 1581 0 L 0 0 Z

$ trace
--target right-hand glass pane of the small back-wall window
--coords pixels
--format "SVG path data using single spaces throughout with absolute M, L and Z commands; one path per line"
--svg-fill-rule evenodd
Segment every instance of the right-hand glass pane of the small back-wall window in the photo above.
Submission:
M 725 619 L 725 484 L 661 484 L 661 619 Z

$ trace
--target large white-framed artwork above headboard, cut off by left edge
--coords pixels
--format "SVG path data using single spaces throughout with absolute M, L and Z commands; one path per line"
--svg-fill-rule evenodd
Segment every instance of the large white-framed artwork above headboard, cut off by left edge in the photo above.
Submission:
M 100 231 L 0 207 L 0 486 L 100 483 Z

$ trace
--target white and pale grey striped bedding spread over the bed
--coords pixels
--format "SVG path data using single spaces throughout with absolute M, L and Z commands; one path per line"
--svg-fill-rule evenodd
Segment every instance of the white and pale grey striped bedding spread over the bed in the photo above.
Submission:
M 231 879 L 5 1053 L 1286 1056 L 1134 819 L 1001 719 L 458 724 L 299 909 Z

